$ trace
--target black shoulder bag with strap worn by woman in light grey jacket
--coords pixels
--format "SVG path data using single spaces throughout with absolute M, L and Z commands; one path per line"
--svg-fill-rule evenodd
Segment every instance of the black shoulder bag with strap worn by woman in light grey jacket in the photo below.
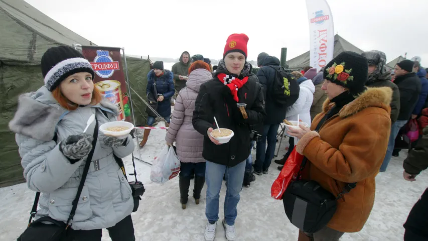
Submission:
M 68 216 L 67 222 L 55 220 L 50 216 L 41 217 L 32 222 L 34 216 L 37 212 L 37 206 L 39 203 L 40 192 L 36 193 L 34 198 L 33 208 L 30 212 L 30 220 L 28 221 L 28 227 L 25 231 L 18 237 L 17 241 L 71 241 L 73 237 L 68 235 L 69 227 L 71 226 L 70 222 L 74 218 L 76 213 L 77 203 L 82 193 L 83 186 L 85 184 L 86 176 L 88 174 L 89 166 L 91 165 L 92 156 L 94 155 L 95 145 L 98 138 L 98 121 L 95 119 L 95 129 L 94 129 L 94 140 L 92 141 L 92 149 L 86 158 L 85 167 L 83 169 L 82 179 L 80 180 L 79 187 L 77 188 L 76 197 L 73 200 L 73 206 Z M 57 135 L 55 134 L 54 141 L 56 141 Z M 52 223 L 52 224 L 47 224 Z

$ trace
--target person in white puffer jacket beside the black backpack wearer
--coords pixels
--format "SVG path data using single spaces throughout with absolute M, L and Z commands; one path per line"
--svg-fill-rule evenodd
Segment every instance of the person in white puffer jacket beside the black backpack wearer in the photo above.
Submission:
M 286 112 L 287 121 L 297 121 L 298 116 L 302 122 L 307 123 L 308 127 L 311 126 L 311 106 L 314 101 L 314 92 L 315 85 L 312 83 L 312 80 L 303 77 L 303 74 L 299 71 L 293 71 L 292 75 L 297 78 L 297 82 L 300 86 L 299 98 L 296 102 L 288 107 Z M 287 135 L 287 134 L 286 134 Z M 293 137 L 289 139 L 289 150 L 287 154 L 284 156 L 283 160 L 287 160 L 294 149 L 294 145 L 297 144 L 297 140 Z M 280 161 L 280 160 L 278 160 Z M 276 160 L 275 160 L 276 162 Z M 276 162 L 277 163 L 277 162 Z M 279 170 L 282 170 L 282 166 L 278 167 Z

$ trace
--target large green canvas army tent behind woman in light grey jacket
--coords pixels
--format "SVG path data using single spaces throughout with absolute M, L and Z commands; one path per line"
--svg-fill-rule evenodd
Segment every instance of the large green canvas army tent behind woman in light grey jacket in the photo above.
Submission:
M 23 182 L 23 170 L 8 123 L 17 108 L 18 96 L 43 85 L 40 60 L 54 46 L 94 45 L 44 15 L 23 0 L 0 0 L 0 187 Z M 131 87 L 146 96 L 148 60 L 126 58 Z M 123 61 L 122 61 L 123 62 Z M 145 105 L 131 95 L 137 125 L 144 125 Z

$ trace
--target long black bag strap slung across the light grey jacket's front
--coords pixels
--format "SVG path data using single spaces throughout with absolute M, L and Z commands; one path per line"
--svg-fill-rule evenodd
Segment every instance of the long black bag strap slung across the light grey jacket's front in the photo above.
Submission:
M 85 163 L 85 167 L 83 169 L 82 179 L 80 180 L 79 187 L 77 188 L 76 197 L 72 202 L 73 206 L 71 207 L 70 215 L 69 215 L 68 220 L 66 222 L 66 228 L 68 228 L 68 223 L 70 223 L 70 221 L 73 220 L 74 214 L 76 213 L 77 204 L 79 202 L 80 194 L 82 193 L 83 186 L 85 185 L 86 176 L 88 174 L 89 166 L 91 165 L 92 157 L 94 155 L 95 146 L 96 146 L 97 139 L 98 139 L 98 121 L 97 121 L 96 116 L 95 116 L 95 129 L 94 129 L 93 138 L 94 139 L 92 141 L 92 149 L 89 152 L 88 157 L 86 158 L 86 163 Z M 58 136 L 55 133 L 53 141 L 56 142 L 57 139 L 58 139 Z M 36 215 L 37 207 L 39 204 L 39 198 L 40 198 L 40 192 L 36 192 L 36 197 L 34 198 L 33 207 L 31 208 L 31 212 L 30 212 L 30 219 L 28 221 L 29 225 L 30 225 L 31 221 L 33 220 L 34 216 Z

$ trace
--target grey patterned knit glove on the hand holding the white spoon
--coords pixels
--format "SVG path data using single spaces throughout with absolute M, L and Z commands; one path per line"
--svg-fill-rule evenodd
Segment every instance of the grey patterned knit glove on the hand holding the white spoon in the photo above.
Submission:
M 72 135 L 61 142 L 59 149 L 68 159 L 80 160 L 91 152 L 93 140 L 92 135 L 86 133 Z

